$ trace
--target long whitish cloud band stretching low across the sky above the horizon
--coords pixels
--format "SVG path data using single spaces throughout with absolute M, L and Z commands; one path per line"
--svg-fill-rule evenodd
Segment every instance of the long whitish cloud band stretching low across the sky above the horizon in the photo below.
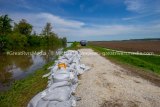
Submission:
M 101 37 L 121 37 L 121 35 L 152 36 L 160 34 L 160 24 L 156 25 L 124 25 L 124 24 L 88 24 L 77 20 L 69 20 L 50 13 L 12 13 L 10 16 L 18 22 L 27 19 L 38 33 L 41 32 L 46 22 L 51 22 L 53 30 L 66 36 L 69 40 L 90 38 L 99 40 Z M 94 38 L 92 38 L 94 37 Z M 127 37 L 127 36 L 126 36 Z

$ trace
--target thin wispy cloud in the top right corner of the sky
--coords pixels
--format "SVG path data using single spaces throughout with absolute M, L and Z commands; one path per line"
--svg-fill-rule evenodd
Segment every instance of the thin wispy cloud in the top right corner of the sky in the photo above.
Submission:
M 125 17 L 122 20 L 134 20 L 160 15 L 159 0 L 124 0 L 124 4 L 126 5 L 126 10 L 138 13 L 138 15 Z

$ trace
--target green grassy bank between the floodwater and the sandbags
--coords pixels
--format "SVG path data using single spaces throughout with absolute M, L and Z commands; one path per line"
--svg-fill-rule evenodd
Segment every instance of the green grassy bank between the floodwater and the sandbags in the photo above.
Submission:
M 53 64 L 53 61 L 46 64 L 25 79 L 15 81 L 10 90 L 0 92 L 0 107 L 26 107 L 34 95 L 46 88 L 48 78 L 42 76 Z

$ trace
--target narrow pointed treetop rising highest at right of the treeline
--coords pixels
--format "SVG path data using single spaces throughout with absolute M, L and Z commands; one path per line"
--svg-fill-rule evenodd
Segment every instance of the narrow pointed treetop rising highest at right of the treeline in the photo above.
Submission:
M 51 23 L 47 22 L 44 29 L 42 30 L 42 34 L 45 36 L 50 36 L 52 33 L 52 25 Z

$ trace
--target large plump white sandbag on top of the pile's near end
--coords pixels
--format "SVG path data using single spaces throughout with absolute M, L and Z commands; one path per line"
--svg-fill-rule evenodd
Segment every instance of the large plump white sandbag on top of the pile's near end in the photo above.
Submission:
M 71 96 L 71 88 L 69 86 L 55 88 L 52 92 L 47 93 L 42 99 L 46 101 L 66 101 Z

